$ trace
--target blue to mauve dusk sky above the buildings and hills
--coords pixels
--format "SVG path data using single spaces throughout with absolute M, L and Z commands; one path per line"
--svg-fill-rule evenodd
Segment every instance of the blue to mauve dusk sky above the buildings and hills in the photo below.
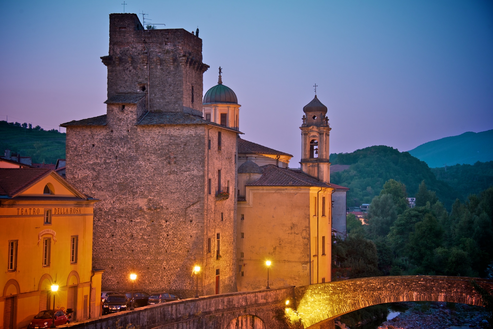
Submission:
M 1 1 L 0 120 L 51 129 L 105 114 L 100 57 L 122 2 Z M 314 83 L 331 153 L 493 128 L 492 1 L 126 2 L 158 28 L 199 27 L 204 91 L 221 66 L 242 137 L 293 154 L 291 167 Z

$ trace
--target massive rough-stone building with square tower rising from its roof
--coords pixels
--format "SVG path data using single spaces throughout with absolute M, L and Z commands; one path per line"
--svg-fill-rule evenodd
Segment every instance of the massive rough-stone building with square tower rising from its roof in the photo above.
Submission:
M 106 114 L 64 123 L 67 180 L 94 208 L 104 290 L 236 291 L 235 126 L 202 118 L 202 40 L 111 14 Z M 229 193 L 227 193 L 229 191 Z

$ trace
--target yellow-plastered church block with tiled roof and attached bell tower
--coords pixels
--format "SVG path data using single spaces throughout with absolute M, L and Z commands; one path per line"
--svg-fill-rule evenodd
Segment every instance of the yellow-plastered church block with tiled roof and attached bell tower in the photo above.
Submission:
M 238 138 L 239 291 L 331 281 L 333 209 L 345 210 L 349 189 L 330 183 L 327 107 L 315 96 L 303 111 L 298 169 L 292 155 Z

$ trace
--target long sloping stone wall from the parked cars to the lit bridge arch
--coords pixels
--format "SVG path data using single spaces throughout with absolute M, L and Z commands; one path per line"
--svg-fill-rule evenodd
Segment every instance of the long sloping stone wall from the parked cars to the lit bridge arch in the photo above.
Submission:
M 285 301 L 292 300 L 293 294 L 294 287 L 284 287 L 212 295 L 149 305 L 61 327 L 109 329 L 132 324 L 141 329 L 242 329 L 245 327 L 238 327 L 236 319 L 253 315 L 265 324 L 264 328 L 287 329 L 292 327 L 283 318 Z

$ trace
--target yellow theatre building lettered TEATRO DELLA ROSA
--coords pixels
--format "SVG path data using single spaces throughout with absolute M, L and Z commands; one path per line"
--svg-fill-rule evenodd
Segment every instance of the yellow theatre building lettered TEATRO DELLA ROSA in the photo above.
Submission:
M 74 309 L 72 321 L 100 315 L 103 270 L 92 269 L 97 201 L 53 170 L 0 168 L 0 328 L 25 328 L 53 302 Z

